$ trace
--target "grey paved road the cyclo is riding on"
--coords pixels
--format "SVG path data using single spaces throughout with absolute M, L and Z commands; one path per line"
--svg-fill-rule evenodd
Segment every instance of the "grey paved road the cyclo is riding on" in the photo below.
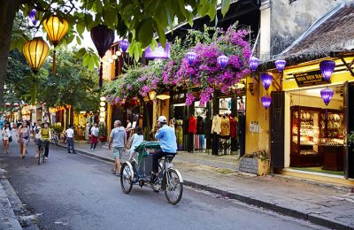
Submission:
M 189 188 L 177 205 L 149 188 L 125 195 L 112 165 L 50 148 L 43 165 L 33 143 L 25 158 L 16 143 L 10 155 L 0 151 L 0 168 L 41 229 L 323 229 Z

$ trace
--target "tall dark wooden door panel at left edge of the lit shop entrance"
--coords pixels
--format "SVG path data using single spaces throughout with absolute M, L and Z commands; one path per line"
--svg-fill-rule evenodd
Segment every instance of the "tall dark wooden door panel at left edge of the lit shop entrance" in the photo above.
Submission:
M 273 91 L 270 107 L 270 141 L 271 141 L 271 167 L 284 167 L 284 107 L 285 92 Z

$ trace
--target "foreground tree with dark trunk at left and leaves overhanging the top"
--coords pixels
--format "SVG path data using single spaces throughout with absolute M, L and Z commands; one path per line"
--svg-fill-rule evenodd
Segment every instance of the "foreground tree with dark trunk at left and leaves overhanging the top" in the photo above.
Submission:
M 129 52 L 138 57 L 151 42 L 156 45 L 154 35 L 158 35 L 159 41 L 165 44 L 165 28 L 172 28 L 175 20 L 187 20 L 192 24 L 196 14 L 202 17 L 209 15 L 215 19 L 217 3 L 218 0 L 3 0 L 0 8 L 0 102 L 3 102 L 6 65 L 16 12 L 27 15 L 35 8 L 41 21 L 48 19 L 53 12 L 65 16 L 71 27 L 64 44 L 73 39 L 80 43 L 85 29 L 89 31 L 98 24 L 105 24 L 119 36 L 128 37 L 131 41 Z M 230 0 L 221 1 L 224 16 L 229 4 Z M 21 46 L 20 41 L 15 42 L 17 47 Z

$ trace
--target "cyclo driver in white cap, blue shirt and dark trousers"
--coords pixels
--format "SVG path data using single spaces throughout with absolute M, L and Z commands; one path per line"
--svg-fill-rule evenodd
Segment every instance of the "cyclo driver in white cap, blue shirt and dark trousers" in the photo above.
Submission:
M 165 116 L 158 118 L 158 131 L 155 134 L 155 139 L 160 141 L 160 147 L 156 153 L 153 154 L 152 169 L 153 174 L 151 181 L 156 180 L 156 174 L 158 173 L 158 159 L 165 157 L 166 155 L 174 155 L 177 152 L 177 140 L 176 134 L 174 134 L 174 128 L 167 126 L 167 119 Z

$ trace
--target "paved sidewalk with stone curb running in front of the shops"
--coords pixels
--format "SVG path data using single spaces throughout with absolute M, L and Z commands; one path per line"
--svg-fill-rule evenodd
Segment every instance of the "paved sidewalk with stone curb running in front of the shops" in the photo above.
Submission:
M 92 151 L 88 143 L 75 143 L 75 149 L 83 155 L 113 162 L 112 151 L 105 146 Z M 354 193 L 284 177 L 257 177 L 237 172 L 233 160 L 212 162 L 211 158 L 188 154 L 182 153 L 173 160 L 186 185 L 320 226 L 354 229 Z

